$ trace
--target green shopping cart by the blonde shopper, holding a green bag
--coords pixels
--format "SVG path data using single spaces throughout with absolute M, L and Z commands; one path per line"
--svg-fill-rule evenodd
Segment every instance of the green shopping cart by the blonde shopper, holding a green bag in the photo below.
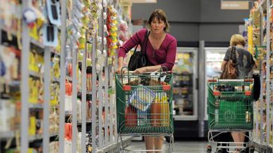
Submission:
M 208 80 L 208 142 L 207 152 L 216 147 L 217 153 L 254 152 L 252 139 L 245 134 L 253 130 L 252 79 Z M 248 142 L 218 142 L 217 136 L 229 132 L 239 132 L 249 138 Z M 232 141 L 232 140 L 231 140 Z

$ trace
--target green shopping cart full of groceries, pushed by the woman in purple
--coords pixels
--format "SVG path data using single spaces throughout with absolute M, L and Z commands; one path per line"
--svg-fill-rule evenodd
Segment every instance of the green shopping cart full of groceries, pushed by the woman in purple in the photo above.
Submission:
M 127 68 L 123 68 L 127 69 Z M 122 70 L 122 71 L 123 71 Z M 122 148 L 118 152 L 146 152 L 124 148 L 123 136 L 165 136 L 167 150 L 173 152 L 172 73 L 116 74 L 117 133 Z M 159 151 L 159 150 L 150 150 Z

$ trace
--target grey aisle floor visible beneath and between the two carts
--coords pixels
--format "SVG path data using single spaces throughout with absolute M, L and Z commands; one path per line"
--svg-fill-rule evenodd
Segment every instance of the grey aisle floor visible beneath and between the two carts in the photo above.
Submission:
M 178 141 L 174 143 L 174 152 L 185 153 L 204 153 L 206 152 L 207 142 L 205 141 Z M 166 147 L 166 146 L 164 146 Z M 145 149 L 144 142 L 132 142 L 128 149 Z

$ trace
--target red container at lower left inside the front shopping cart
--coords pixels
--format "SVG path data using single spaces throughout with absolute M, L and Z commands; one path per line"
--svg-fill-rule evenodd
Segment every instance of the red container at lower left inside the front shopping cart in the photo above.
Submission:
M 125 126 L 137 126 L 137 110 L 132 106 L 125 108 Z

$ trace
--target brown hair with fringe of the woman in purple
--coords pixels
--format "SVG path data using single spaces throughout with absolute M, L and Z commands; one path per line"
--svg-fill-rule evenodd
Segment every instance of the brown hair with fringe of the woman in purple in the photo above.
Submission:
M 169 23 L 168 23 L 168 20 L 167 20 L 167 16 L 165 14 L 165 12 L 163 10 L 160 10 L 160 9 L 156 9 L 153 11 L 153 13 L 150 15 L 150 18 L 148 20 L 148 25 L 149 25 L 149 28 L 151 26 L 151 23 L 154 19 L 157 19 L 159 21 L 163 21 L 165 23 L 165 28 L 164 28 L 164 31 L 165 32 L 168 32 L 169 31 Z

